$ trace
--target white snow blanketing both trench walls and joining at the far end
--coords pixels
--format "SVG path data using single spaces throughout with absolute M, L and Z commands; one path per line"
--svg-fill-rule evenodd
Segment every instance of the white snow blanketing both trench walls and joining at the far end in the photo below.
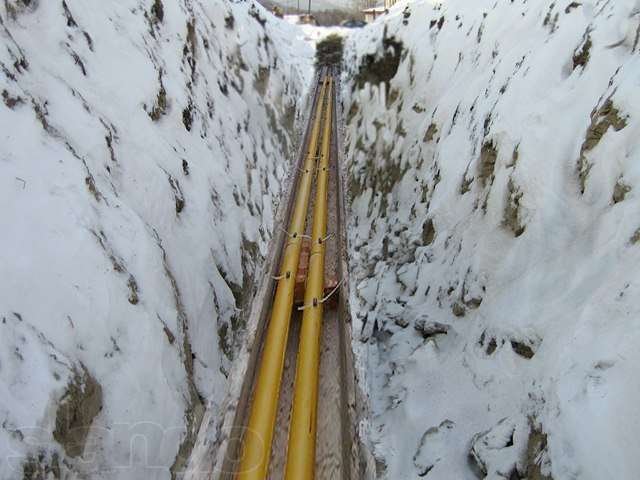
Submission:
M 313 43 L 346 31 L 249 2 L 26 3 L 0 6 L 0 478 L 170 478 L 229 413 Z M 419 0 L 349 31 L 380 478 L 637 477 L 639 12 Z M 56 420 L 94 381 L 75 456 Z

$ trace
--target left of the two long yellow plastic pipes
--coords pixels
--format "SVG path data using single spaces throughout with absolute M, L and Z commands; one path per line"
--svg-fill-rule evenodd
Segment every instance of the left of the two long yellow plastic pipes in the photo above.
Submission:
M 293 307 L 293 293 L 300 261 L 300 250 L 302 249 L 301 235 L 304 234 L 307 220 L 326 85 L 325 78 L 320 89 L 309 146 L 300 174 L 293 214 L 289 224 L 281 274 L 259 364 L 249 423 L 244 433 L 240 464 L 236 471 L 236 479 L 238 480 L 264 480 L 267 477 Z

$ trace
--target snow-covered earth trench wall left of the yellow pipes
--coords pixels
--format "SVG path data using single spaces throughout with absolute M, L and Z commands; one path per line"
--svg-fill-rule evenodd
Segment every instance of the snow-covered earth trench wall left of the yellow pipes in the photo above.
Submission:
M 2 2 L 0 478 L 183 468 L 296 150 L 299 35 L 250 2 Z

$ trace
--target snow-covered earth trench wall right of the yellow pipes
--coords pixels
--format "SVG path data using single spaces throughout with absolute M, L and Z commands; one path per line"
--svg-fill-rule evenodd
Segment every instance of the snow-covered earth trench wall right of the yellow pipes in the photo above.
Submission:
M 637 478 L 640 4 L 399 5 L 347 42 L 382 478 Z

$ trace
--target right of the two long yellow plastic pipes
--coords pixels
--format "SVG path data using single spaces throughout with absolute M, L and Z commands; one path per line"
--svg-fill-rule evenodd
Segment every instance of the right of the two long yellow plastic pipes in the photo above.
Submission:
M 293 410 L 289 427 L 286 480 L 312 480 L 315 472 L 320 334 L 322 331 L 327 196 L 331 154 L 332 87 L 333 84 L 330 80 L 327 95 L 328 104 L 324 118 L 322 153 L 316 182 L 316 201 L 313 208 L 311 252 L 304 294 Z

